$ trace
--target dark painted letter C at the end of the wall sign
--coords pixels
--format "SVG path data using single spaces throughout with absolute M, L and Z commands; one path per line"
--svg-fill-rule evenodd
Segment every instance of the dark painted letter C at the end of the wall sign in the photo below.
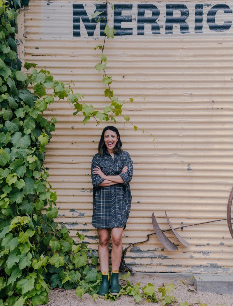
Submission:
M 209 29 L 215 32 L 224 32 L 231 28 L 231 21 L 224 21 L 223 24 L 215 23 L 215 15 L 218 10 L 222 9 L 224 13 L 232 13 L 232 9 L 229 8 L 226 4 L 216 4 L 214 5 L 207 14 L 207 24 L 209 25 Z

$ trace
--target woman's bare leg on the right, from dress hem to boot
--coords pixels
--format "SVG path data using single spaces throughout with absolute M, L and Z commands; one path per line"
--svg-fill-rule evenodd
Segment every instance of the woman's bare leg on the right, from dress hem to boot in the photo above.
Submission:
M 122 256 L 122 233 L 123 227 L 114 227 L 111 233 L 111 240 L 113 244 L 111 260 L 112 260 L 112 270 L 119 270 L 120 260 Z

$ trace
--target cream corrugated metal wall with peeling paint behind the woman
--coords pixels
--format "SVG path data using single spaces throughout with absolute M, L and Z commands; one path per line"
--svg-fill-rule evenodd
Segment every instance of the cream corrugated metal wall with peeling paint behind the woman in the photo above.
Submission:
M 93 47 L 102 43 L 103 37 L 87 37 L 82 22 L 80 37 L 73 37 L 72 3 L 84 4 L 89 17 L 94 12 L 94 2 L 30 1 L 25 9 L 20 57 L 40 68 L 46 66 L 58 80 L 73 80 L 74 91 L 84 95 L 83 101 L 101 110 L 109 101 L 103 95 L 101 73 L 94 67 L 100 54 Z M 211 31 L 206 14 L 219 3 L 233 9 L 233 2 L 205 1 L 202 33 L 194 32 L 194 8 L 204 2 L 178 2 L 190 11 L 190 33 L 181 34 L 177 25 L 171 35 L 165 34 L 165 8 L 167 3 L 177 2 L 146 2 L 160 9 L 160 35 L 152 35 L 149 26 L 145 35 L 137 35 L 137 4 L 145 2 L 119 3 L 133 4 L 133 35 L 106 42 L 106 72 L 112 75 L 112 89 L 120 99 L 137 95 L 134 103 L 126 104 L 124 114 L 156 137 L 153 143 L 150 136 L 117 119 L 123 149 L 134 162 L 131 213 L 123 238 L 126 246 L 154 232 L 152 212 L 161 229 L 169 228 L 165 209 L 174 227 L 181 222 L 187 225 L 226 218 L 233 183 L 232 28 Z M 111 25 L 110 10 L 109 6 Z M 215 21 L 232 21 L 232 14 L 219 10 Z M 82 125 L 83 118 L 72 113 L 71 105 L 58 101 L 45 113 L 57 118 L 46 166 L 50 183 L 57 188 L 57 222 L 64 222 L 73 237 L 77 230 L 84 233 L 90 248 L 97 248 L 97 231 L 91 226 L 90 166 L 106 124 L 96 126 L 92 120 Z M 133 246 L 126 253 L 126 262 L 136 271 L 233 273 L 232 239 L 226 221 L 188 227 L 179 233 L 190 247 L 182 247 L 167 232 L 178 245 L 177 251 L 169 252 L 153 235 L 148 242 Z

